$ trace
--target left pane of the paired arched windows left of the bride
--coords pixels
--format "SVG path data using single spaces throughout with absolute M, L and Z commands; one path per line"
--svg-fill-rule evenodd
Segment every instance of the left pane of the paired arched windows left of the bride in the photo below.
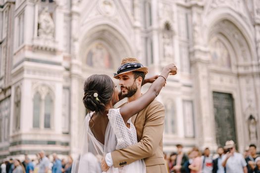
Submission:
M 41 95 L 37 92 L 33 98 L 33 128 L 40 128 Z

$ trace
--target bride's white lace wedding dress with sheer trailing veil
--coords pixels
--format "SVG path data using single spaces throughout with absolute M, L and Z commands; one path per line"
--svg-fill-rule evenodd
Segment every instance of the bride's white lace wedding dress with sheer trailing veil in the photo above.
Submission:
M 93 113 L 90 113 L 85 118 L 80 157 L 73 162 L 71 173 L 102 173 L 101 159 L 106 153 L 137 143 L 136 129 L 131 121 L 128 120 L 130 128 L 127 128 L 119 109 L 110 109 L 103 145 L 89 128 L 92 115 Z M 106 173 L 146 173 L 146 167 L 143 160 L 138 160 L 120 168 L 112 166 Z

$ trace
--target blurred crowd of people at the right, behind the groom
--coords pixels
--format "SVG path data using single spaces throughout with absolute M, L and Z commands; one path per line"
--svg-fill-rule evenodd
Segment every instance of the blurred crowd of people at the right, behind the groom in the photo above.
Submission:
M 164 154 L 168 173 L 260 173 L 260 155 L 255 144 L 251 144 L 244 154 L 236 151 L 232 140 L 224 147 L 219 146 L 217 154 L 211 154 L 208 147 L 203 154 L 197 147 L 188 153 L 183 152 L 181 144 L 176 147 L 176 153 Z

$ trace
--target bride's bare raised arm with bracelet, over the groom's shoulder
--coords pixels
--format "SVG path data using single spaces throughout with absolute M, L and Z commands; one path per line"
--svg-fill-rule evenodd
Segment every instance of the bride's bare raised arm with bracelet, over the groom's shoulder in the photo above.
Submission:
M 143 94 L 141 97 L 139 97 L 137 100 L 132 101 L 130 103 L 125 104 L 120 108 L 120 114 L 124 120 L 124 122 L 127 122 L 129 118 L 131 118 L 133 115 L 137 114 L 141 110 L 143 110 L 145 107 L 147 107 L 159 94 L 161 88 L 165 84 L 165 79 L 167 79 L 169 73 L 176 74 L 176 66 L 174 64 L 169 64 L 165 66 L 159 75 L 159 77 L 156 79 L 156 81 L 149 87 L 148 91 Z M 161 77 L 163 76 L 163 77 Z

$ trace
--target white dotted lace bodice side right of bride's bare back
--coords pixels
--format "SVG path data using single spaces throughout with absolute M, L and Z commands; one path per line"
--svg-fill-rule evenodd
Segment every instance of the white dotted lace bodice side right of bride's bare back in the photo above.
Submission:
M 119 109 L 110 109 L 107 116 L 116 136 L 116 150 L 137 143 L 137 135 L 134 125 L 130 120 L 127 121 L 127 123 L 130 124 L 130 128 L 125 125 Z

